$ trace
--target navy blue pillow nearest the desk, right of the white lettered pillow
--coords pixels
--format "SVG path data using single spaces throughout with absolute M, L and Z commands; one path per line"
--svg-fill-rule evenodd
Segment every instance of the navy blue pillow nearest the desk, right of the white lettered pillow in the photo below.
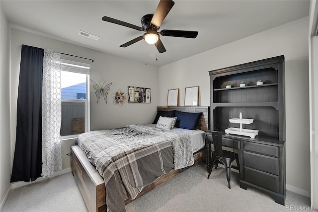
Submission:
M 201 115 L 202 112 L 175 111 L 177 121 L 175 122 L 174 127 L 196 130 Z

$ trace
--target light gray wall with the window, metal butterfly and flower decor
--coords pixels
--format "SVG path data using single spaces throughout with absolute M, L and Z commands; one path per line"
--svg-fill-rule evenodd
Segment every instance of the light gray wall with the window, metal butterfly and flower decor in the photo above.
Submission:
M 67 60 L 89 63 L 90 79 L 94 82 L 113 82 L 108 91 L 107 104 L 103 99 L 100 99 L 98 104 L 96 104 L 95 91 L 91 85 L 89 87 L 91 130 L 110 129 L 122 127 L 130 123 L 144 124 L 153 121 L 157 106 L 159 105 L 158 67 L 145 66 L 143 63 L 58 41 L 32 32 L 31 30 L 11 29 L 11 166 L 15 147 L 16 101 L 22 44 L 92 58 L 94 60 L 93 63 L 89 60 L 78 59 L 76 57 L 61 56 Z M 127 87 L 130 85 L 151 88 L 151 104 L 125 103 L 123 106 L 114 105 L 112 94 L 116 93 L 118 89 L 127 93 Z M 63 140 L 61 142 L 63 169 L 70 168 L 70 158 L 66 154 L 70 152 L 70 146 L 74 143 L 75 139 Z

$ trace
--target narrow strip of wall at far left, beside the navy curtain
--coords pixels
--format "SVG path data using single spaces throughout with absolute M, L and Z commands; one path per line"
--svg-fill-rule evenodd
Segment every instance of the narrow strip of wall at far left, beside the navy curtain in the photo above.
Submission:
M 0 4 L 0 211 L 10 189 L 9 26 Z

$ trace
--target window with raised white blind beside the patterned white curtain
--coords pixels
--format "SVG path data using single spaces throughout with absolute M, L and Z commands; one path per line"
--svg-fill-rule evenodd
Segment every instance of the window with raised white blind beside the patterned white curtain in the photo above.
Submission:
M 62 138 L 89 131 L 89 64 L 61 60 Z

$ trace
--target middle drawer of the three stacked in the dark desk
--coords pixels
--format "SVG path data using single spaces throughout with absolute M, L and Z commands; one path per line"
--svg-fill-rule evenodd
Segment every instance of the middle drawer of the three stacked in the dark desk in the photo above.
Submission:
M 279 159 L 259 155 L 251 152 L 243 152 L 244 166 L 268 172 L 274 175 L 279 174 Z

